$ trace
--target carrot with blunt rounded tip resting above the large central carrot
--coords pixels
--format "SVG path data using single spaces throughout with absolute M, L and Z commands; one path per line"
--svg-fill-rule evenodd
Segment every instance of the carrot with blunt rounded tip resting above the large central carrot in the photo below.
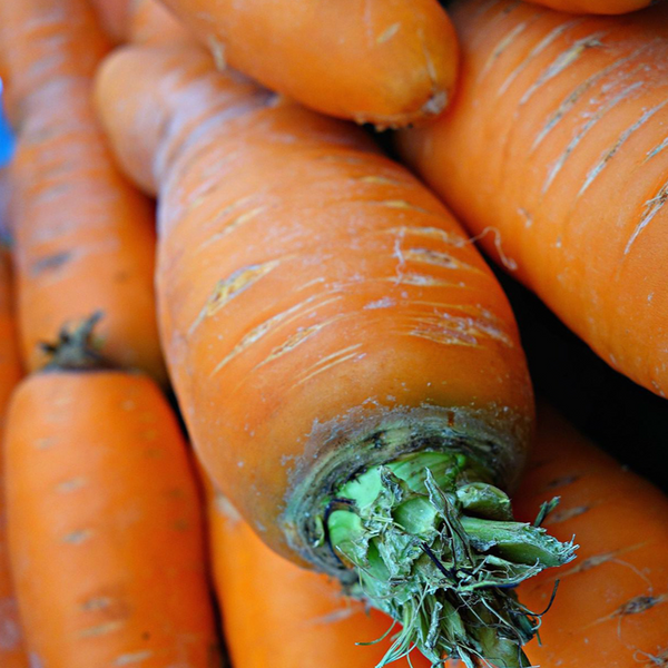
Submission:
M 440 114 L 459 49 L 438 0 L 164 0 L 223 67 L 340 118 L 399 127 Z

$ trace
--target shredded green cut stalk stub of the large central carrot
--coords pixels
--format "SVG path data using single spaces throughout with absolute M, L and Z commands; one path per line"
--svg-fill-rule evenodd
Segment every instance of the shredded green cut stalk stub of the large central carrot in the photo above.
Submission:
M 571 561 L 577 546 L 514 521 L 485 479 L 468 454 L 421 451 L 367 469 L 328 500 L 321 540 L 356 570 L 353 593 L 403 626 L 380 666 L 414 648 L 434 665 L 530 665 L 522 645 L 540 615 L 514 587 Z

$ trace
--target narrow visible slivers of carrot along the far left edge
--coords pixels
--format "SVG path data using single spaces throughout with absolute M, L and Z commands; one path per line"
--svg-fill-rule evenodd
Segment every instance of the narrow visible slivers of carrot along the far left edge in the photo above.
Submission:
M 0 219 L 0 237 L 2 235 L 1 227 L 2 220 Z M 21 377 L 12 307 L 9 253 L 2 246 L 0 238 L 0 443 L 3 440 L 7 403 Z M 2 668 L 28 668 L 28 656 L 23 648 L 18 606 L 9 568 L 3 491 L 4 468 L 0 456 L 0 666 Z

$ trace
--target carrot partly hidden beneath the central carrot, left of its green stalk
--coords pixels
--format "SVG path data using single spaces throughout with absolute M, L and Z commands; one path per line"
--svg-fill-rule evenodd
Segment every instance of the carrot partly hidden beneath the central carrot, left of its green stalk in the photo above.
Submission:
M 342 596 L 337 581 L 265 546 L 222 494 L 209 495 L 212 568 L 233 666 L 371 668 L 390 647 L 392 620 Z M 385 636 L 384 640 L 375 642 Z M 365 640 L 372 645 L 358 646 Z M 418 651 L 397 668 L 429 668 Z

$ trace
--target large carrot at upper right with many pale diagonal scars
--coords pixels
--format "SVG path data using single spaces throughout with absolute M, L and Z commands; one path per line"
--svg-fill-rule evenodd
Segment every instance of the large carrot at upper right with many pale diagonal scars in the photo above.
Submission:
M 668 393 L 668 4 L 453 9 L 456 104 L 403 155 L 603 360 Z M 502 254 L 502 255 L 501 255 Z

